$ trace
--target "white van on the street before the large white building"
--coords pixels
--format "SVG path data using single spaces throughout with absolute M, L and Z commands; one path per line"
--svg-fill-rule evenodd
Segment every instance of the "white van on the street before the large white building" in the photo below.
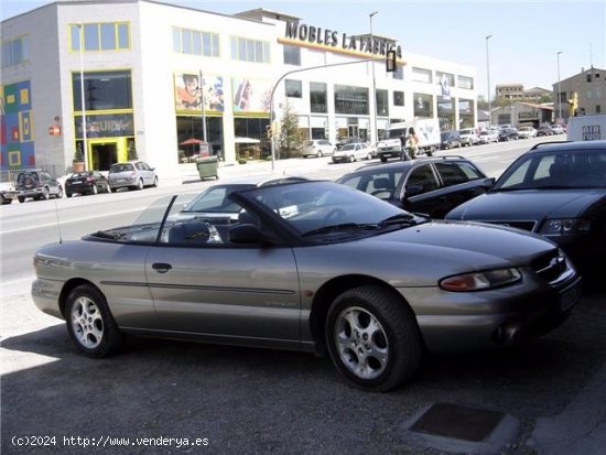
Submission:
M 410 129 L 419 137 L 419 153 L 432 156 L 433 152 L 440 150 L 442 139 L 440 137 L 440 124 L 437 119 L 422 119 L 390 123 L 381 140 L 377 143 L 377 156 L 385 163 L 388 158 L 400 158 L 402 143 L 400 138 L 409 134 Z

